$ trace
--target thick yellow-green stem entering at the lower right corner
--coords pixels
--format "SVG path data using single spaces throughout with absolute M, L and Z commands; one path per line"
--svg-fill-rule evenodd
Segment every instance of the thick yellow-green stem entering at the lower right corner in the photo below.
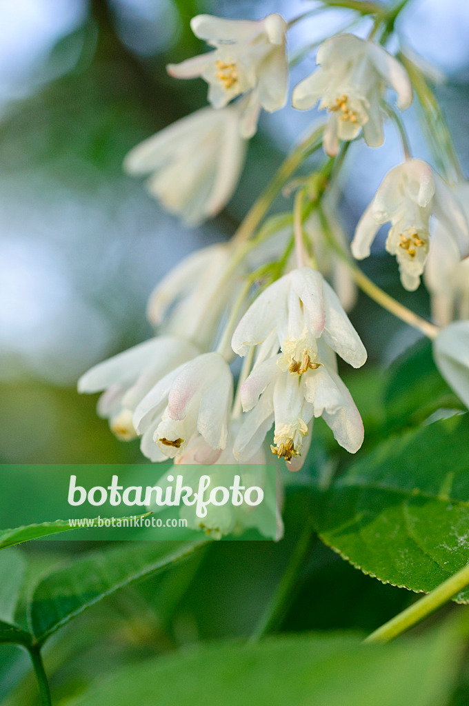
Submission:
M 469 585 L 469 564 L 441 583 L 427 596 L 415 602 L 395 618 L 369 635 L 365 642 L 389 642 L 412 628 Z

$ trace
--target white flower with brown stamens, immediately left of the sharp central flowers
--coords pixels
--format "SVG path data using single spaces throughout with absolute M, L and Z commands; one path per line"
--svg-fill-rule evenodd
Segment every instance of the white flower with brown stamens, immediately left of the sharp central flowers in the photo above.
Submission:
M 204 353 L 162 378 L 136 407 L 133 424 L 142 453 L 153 461 L 182 456 L 198 433 L 225 448 L 232 405 L 232 374 L 216 352 Z

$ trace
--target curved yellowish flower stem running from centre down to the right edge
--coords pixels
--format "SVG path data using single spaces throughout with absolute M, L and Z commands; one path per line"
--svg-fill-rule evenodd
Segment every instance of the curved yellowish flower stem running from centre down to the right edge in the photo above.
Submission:
M 417 313 L 415 313 L 415 311 L 411 311 L 411 309 L 408 309 L 407 306 L 400 304 L 400 301 L 397 301 L 389 294 L 386 294 L 386 292 L 384 292 L 381 287 L 375 285 L 374 282 L 372 282 L 372 280 L 367 277 L 367 275 L 362 273 L 362 270 L 360 270 L 360 268 L 358 268 L 357 265 L 355 265 L 355 263 L 351 261 L 350 257 L 336 242 L 336 239 L 334 238 L 333 233 L 331 232 L 331 228 L 328 225 L 327 218 L 321 208 L 319 208 L 319 215 L 321 217 L 321 223 L 323 225 L 323 229 L 329 244 L 334 249 L 334 251 L 336 251 L 336 253 L 345 263 L 345 265 L 347 265 L 348 269 L 350 270 L 350 274 L 352 275 L 353 279 L 360 287 L 360 289 L 362 289 L 365 294 L 368 294 L 371 299 L 374 299 L 374 301 L 376 301 L 376 304 L 382 306 L 383 309 L 386 309 L 386 311 L 390 311 L 394 316 L 400 318 L 401 321 L 408 323 L 413 328 L 417 328 L 418 330 L 422 331 L 422 333 L 430 339 L 434 339 L 437 336 L 437 333 L 439 332 L 438 326 L 435 326 L 433 323 L 430 323 L 425 318 L 422 318 L 422 316 L 419 316 Z

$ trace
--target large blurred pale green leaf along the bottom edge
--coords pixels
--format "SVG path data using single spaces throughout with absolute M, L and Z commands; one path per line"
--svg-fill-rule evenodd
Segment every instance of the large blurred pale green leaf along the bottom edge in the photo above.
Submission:
M 458 662 L 446 635 L 364 646 L 350 633 L 219 643 L 122 669 L 69 706 L 433 706 Z

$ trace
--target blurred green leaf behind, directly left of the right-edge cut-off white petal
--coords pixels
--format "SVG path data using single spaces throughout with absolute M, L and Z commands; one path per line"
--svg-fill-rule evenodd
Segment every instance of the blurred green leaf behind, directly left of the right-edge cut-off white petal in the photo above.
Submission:
M 418 424 L 439 407 L 463 409 L 434 364 L 432 342 L 410 346 L 391 364 L 384 393 L 389 426 Z

